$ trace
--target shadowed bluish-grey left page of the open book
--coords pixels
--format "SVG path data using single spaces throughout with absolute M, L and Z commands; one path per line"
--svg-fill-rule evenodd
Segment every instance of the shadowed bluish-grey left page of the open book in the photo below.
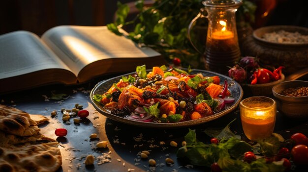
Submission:
M 69 70 L 37 35 L 28 31 L 1 35 L 0 52 L 0 79 L 45 69 Z

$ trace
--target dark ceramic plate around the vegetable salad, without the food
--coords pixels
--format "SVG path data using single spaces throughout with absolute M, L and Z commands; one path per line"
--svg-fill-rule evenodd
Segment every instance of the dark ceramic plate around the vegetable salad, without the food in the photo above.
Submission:
M 149 70 L 148 70 L 149 72 Z M 134 72 L 135 73 L 135 72 Z M 134 74 L 134 73 L 130 73 L 130 74 Z M 132 120 L 128 120 L 125 119 L 123 117 L 119 117 L 116 115 L 113 115 L 110 113 L 109 110 L 105 109 L 103 107 L 102 104 L 100 104 L 99 102 L 95 101 L 92 97 L 93 95 L 96 94 L 100 94 L 102 95 L 103 93 L 105 93 L 112 85 L 113 83 L 117 83 L 123 75 L 117 76 L 117 77 L 113 77 L 107 80 L 103 80 L 99 83 L 97 83 L 95 85 L 95 87 L 92 89 L 91 91 L 91 102 L 92 105 L 94 106 L 94 108 L 101 113 L 102 115 L 118 121 L 120 123 L 126 123 L 129 125 L 135 125 L 135 126 L 142 126 L 142 127 L 149 127 L 149 128 L 177 128 L 177 127 L 188 127 L 188 126 L 194 126 L 194 125 L 198 125 L 201 123 L 207 123 L 210 122 L 212 120 L 215 120 L 217 118 L 220 118 L 228 113 L 230 113 L 231 111 L 233 111 L 238 104 L 240 103 L 241 99 L 243 98 L 243 90 L 242 87 L 240 86 L 240 84 L 238 84 L 237 82 L 235 82 L 234 80 L 232 80 L 230 77 L 222 75 L 222 74 L 218 74 L 218 73 L 214 73 L 214 72 L 210 72 L 210 71 L 204 71 L 204 70 L 192 70 L 191 74 L 198 74 L 201 73 L 203 74 L 203 76 L 219 76 L 220 77 L 220 84 L 223 84 L 224 80 L 226 79 L 229 83 L 229 91 L 231 92 L 231 95 L 235 98 L 235 102 L 231 105 L 226 106 L 227 108 L 219 113 L 216 113 L 212 116 L 209 117 L 204 117 L 204 118 L 200 118 L 200 119 L 196 119 L 196 120 L 190 120 L 190 121 L 184 121 L 184 122 L 179 122 L 179 123 L 147 123 L 147 122 L 140 122 L 140 121 L 132 121 Z M 124 76 L 128 76 L 129 74 L 124 74 Z M 231 86 L 230 86 L 231 85 Z

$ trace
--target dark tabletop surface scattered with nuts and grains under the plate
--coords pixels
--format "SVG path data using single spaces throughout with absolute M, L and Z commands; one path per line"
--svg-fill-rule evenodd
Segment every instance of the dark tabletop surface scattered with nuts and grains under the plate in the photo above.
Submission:
M 75 171 L 97 171 L 97 172 L 127 172 L 132 169 L 135 172 L 154 171 L 149 167 L 148 159 L 153 158 L 156 163 L 156 172 L 204 172 L 210 171 L 206 167 L 190 166 L 189 162 L 177 159 L 176 152 L 181 147 L 184 136 L 188 133 L 188 128 L 176 129 L 155 129 L 130 126 L 123 123 L 112 121 L 99 114 L 90 103 L 90 91 L 97 81 L 78 86 L 52 85 L 21 91 L 17 93 L 0 96 L 1 104 L 10 105 L 24 110 L 30 114 L 42 114 L 50 119 L 48 123 L 40 126 L 41 133 L 47 137 L 53 138 L 60 143 L 59 148 L 62 153 L 62 168 L 59 172 Z M 68 98 L 62 100 L 49 99 L 54 94 L 66 94 Z M 48 97 L 48 98 L 47 98 Z M 80 124 L 63 123 L 62 108 L 71 109 L 75 103 L 84 106 L 84 109 L 90 112 L 89 117 Z M 51 118 L 51 112 L 58 111 L 58 117 Z M 241 135 L 243 140 L 247 140 L 243 133 L 240 120 L 239 109 L 229 113 L 214 121 L 203 123 L 190 129 L 195 129 L 197 139 L 205 143 L 210 143 L 210 137 L 203 131 L 209 127 L 223 128 L 232 120 L 231 130 Z M 66 128 L 68 134 L 64 138 L 57 138 L 56 128 Z M 277 113 L 275 133 L 281 134 L 285 139 L 296 132 L 301 132 L 308 136 L 308 120 L 292 120 L 285 118 Z M 97 139 L 90 140 L 92 133 L 98 135 Z M 108 141 L 108 148 L 96 149 L 95 145 L 100 141 Z M 171 147 L 170 142 L 175 141 L 178 147 Z M 138 157 L 138 152 L 149 150 L 148 159 Z M 84 165 L 85 157 L 88 154 L 100 157 L 110 155 L 111 162 L 97 165 L 95 161 L 93 166 Z M 165 158 L 170 157 L 174 160 L 174 166 L 165 164 Z M 108 159 L 108 158 L 107 158 Z

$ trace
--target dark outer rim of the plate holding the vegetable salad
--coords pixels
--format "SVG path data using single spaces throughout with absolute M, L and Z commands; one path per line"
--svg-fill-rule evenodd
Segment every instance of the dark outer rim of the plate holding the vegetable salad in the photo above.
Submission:
M 186 68 L 181 68 L 181 70 L 187 70 L 187 69 Z M 228 109 L 225 109 L 225 110 L 223 110 L 221 112 L 218 112 L 218 113 L 216 113 L 214 115 L 208 116 L 206 118 L 200 118 L 200 119 L 196 119 L 196 120 L 190 120 L 190 121 L 184 121 L 184 122 L 178 122 L 178 123 L 148 123 L 148 122 L 141 122 L 141 121 L 133 121 L 133 120 L 128 120 L 128 119 L 125 119 L 123 117 L 119 117 L 119 116 L 113 115 L 111 113 L 104 112 L 102 110 L 103 107 L 99 104 L 99 102 L 96 102 L 92 98 L 93 95 L 94 95 L 94 91 L 96 91 L 99 88 L 99 86 L 101 86 L 103 83 L 106 83 L 106 82 L 108 82 L 110 80 L 113 80 L 113 79 L 116 79 L 116 78 L 120 78 L 122 76 L 126 76 L 126 75 L 129 75 L 129 74 L 136 74 L 136 72 L 131 72 L 131 73 L 118 75 L 118 76 L 115 76 L 115 77 L 112 77 L 112 78 L 109 78 L 109 79 L 102 80 L 102 81 L 98 82 L 93 87 L 93 89 L 91 90 L 90 100 L 91 100 L 91 103 L 92 103 L 93 107 L 101 115 L 103 115 L 103 116 L 105 116 L 105 117 L 107 117 L 107 118 L 109 118 L 111 120 L 120 122 L 120 123 L 134 125 L 134 126 L 140 126 L 140 127 L 145 127 L 145 128 L 180 128 L 180 127 L 195 126 L 195 125 L 207 123 L 207 122 L 213 121 L 215 119 L 218 119 L 218 118 L 220 118 L 222 116 L 225 116 L 225 115 L 229 114 L 230 112 L 232 112 L 234 109 L 236 109 L 238 107 L 238 105 L 240 104 L 240 101 L 242 100 L 243 95 L 244 95 L 243 88 L 241 87 L 241 85 L 238 82 L 236 82 L 235 80 L 233 80 L 229 76 L 226 76 L 226 75 L 223 75 L 223 74 L 219 74 L 219 73 L 216 73 L 216 72 L 200 70 L 200 69 L 191 69 L 191 70 L 193 72 L 215 74 L 215 75 L 218 75 L 219 77 L 223 76 L 224 78 L 226 78 L 228 80 L 232 80 L 235 83 L 235 85 L 239 88 L 239 94 L 240 94 L 239 95 L 239 99 L 231 107 L 229 107 Z M 149 72 L 149 71 L 152 71 L 152 69 L 148 69 L 147 70 L 147 72 Z M 100 109 L 100 108 L 102 108 L 102 109 Z

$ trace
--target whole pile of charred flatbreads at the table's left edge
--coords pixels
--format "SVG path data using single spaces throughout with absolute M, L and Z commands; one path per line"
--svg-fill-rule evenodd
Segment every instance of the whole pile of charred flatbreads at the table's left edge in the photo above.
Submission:
M 33 117 L 33 119 L 31 119 Z M 0 105 L 0 172 L 55 172 L 62 165 L 58 142 L 39 133 L 48 121 Z

